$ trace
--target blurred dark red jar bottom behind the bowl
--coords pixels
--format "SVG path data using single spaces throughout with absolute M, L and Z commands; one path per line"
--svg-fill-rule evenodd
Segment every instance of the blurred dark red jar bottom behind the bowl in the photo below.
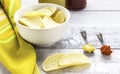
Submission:
M 86 0 L 66 0 L 66 8 L 71 10 L 80 10 L 86 7 Z

